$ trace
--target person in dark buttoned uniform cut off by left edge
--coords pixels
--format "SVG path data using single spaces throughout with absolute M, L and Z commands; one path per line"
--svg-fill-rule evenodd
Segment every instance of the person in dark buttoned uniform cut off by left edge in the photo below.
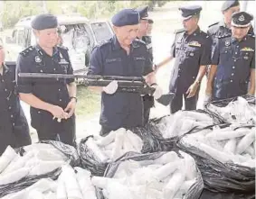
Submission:
M 31 144 L 29 127 L 15 92 L 15 65 L 5 64 L 5 50 L 0 39 L 0 156 L 5 148 Z

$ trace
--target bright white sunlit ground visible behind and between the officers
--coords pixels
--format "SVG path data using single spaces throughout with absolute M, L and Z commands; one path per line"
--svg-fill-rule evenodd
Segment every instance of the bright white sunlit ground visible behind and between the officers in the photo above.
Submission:
M 153 36 L 153 49 L 154 49 L 154 59 L 155 63 L 160 62 L 165 59 L 170 51 L 170 46 L 174 40 L 175 29 L 182 28 L 180 21 L 180 12 L 178 11 L 179 5 L 187 4 L 197 4 L 203 6 L 203 12 L 201 14 L 200 27 L 202 30 L 206 30 L 207 26 L 215 21 L 221 19 L 221 14 L 219 12 L 222 2 L 220 1 L 194 1 L 194 2 L 173 2 L 168 3 L 165 7 L 156 8 L 150 16 L 154 20 L 154 30 Z M 173 66 L 173 61 L 162 68 L 157 73 L 157 81 L 164 90 L 167 91 L 170 71 Z M 202 102 L 204 99 L 204 82 L 201 87 L 200 98 L 198 103 L 198 108 L 202 107 Z M 30 122 L 29 107 L 23 104 L 25 114 Z M 156 104 L 156 107 L 152 109 L 151 117 L 157 117 L 166 115 L 169 113 L 169 107 L 163 106 L 161 104 Z M 100 131 L 99 125 L 100 113 L 95 113 L 91 120 L 84 120 L 83 118 L 77 118 L 77 137 L 81 139 L 88 134 L 94 134 Z M 33 129 L 32 129 L 33 131 Z M 37 140 L 36 133 L 32 134 L 33 141 Z

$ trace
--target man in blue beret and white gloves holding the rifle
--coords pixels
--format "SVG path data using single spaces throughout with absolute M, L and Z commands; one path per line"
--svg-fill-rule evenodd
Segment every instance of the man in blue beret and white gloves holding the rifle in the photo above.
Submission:
M 148 85 L 156 86 L 152 62 L 143 41 L 137 40 L 139 15 L 134 9 L 123 9 L 112 17 L 115 35 L 96 47 L 91 54 L 89 75 L 142 77 Z M 118 82 L 100 87 L 101 114 L 100 135 L 121 127 L 130 129 L 144 125 L 143 101 L 138 93 L 124 93 Z M 97 89 L 97 88 L 94 88 Z M 161 95 L 156 86 L 155 97 Z

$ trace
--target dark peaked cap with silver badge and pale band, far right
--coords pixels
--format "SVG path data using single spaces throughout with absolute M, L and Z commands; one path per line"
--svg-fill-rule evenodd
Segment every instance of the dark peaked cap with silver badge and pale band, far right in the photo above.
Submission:
M 234 27 L 249 27 L 251 25 L 251 20 L 253 20 L 253 16 L 246 12 L 232 14 L 232 26 Z

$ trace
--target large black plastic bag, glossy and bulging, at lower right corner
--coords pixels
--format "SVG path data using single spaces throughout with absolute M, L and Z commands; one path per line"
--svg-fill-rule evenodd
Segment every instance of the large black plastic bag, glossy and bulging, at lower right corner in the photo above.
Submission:
M 223 128 L 229 125 L 222 124 L 220 127 Z M 194 130 L 189 133 L 201 130 Z M 182 139 L 188 134 L 179 138 L 176 144 L 179 149 L 194 158 L 203 176 L 205 189 L 217 193 L 238 193 L 245 195 L 255 192 L 255 168 L 243 167 L 233 163 L 223 164 L 204 151 L 183 142 Z

